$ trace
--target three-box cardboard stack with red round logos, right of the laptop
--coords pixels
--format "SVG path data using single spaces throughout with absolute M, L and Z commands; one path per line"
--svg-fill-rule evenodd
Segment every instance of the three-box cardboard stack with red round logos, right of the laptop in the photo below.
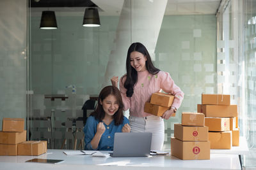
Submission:
M 182 113 L 182 124 L 174 125 L 171 153 L 183 160 L 210 159 L 208 127 L 203 113 Z

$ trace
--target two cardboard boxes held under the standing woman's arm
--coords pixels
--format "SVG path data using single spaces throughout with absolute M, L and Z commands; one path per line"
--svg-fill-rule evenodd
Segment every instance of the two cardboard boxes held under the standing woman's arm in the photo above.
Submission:
M 150 98 L 150 103 L 145 103 L 144 111 L 156 115 L 157 117 L 161 117 L 165 111 L 170 109 L 173 99 L 174 96 L 170 94 L 161 92 L 154 93 Z M 173 114 L 172 117 L 175 117 L 175 114 Z

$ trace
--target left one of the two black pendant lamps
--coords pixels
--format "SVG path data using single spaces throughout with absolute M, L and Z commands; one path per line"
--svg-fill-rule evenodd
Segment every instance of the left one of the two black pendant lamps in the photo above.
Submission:
M 42 11 L 40 29 L 57 29 L 54 11 Z

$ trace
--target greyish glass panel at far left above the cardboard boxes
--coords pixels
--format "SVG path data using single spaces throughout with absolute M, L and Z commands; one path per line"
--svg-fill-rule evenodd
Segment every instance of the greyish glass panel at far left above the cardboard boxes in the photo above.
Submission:
M 26 118 L 27 1 L 0 1 L 0 131 L 4 117 Z

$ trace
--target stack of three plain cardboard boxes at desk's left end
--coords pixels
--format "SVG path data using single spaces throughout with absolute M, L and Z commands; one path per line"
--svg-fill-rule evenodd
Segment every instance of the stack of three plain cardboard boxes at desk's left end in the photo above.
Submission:
M 3 118 L 0 155 L 41 155 L 45 152 L 47 141 L 26 141 L 23 118 Z

